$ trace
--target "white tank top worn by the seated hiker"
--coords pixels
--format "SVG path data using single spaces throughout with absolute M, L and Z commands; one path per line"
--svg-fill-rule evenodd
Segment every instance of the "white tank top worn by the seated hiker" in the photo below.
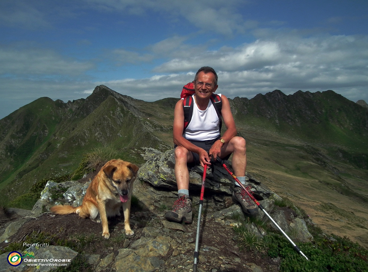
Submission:
M 218 93 L 221 97 L 221 93 Z M 183 137 L 193 141 L 207 141 L 220 136 L 220 122 L 215 107 L 209 100 L 207 109 L 200 110 L 193 95 L 193 115 Z

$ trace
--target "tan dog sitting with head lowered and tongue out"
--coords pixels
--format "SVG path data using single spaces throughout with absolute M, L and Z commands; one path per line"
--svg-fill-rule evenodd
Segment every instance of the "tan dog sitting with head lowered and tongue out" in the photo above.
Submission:
M 110 160 L 89 184 L 81 206 L 74 208 L 70 205 L 57 205 L 50 210 L 61 215 L 77 213 L 81 218 L 102 222 L 102 236 L 109 239 L 107 217 L 119 216 L 123 205 L 125 234 L 133 235 L 130 228 L 130 204 L 138 169 L 137 165 L 124 160 Z

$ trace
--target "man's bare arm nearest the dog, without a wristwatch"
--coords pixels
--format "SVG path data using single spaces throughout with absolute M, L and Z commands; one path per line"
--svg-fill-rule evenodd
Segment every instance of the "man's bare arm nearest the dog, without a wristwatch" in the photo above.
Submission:
M 173 126 L 174 144 L 178 146 L 183 146 L 189 151 L 197 153 L 199 155 L 199 161 L 201 162 L 202 167 L 204 166 L 204 164 L 210 164 L 208 153 L 203 148 L 200 148 L 192 144 L 187 139 L 185 139 L 183 137 L 183 131 L 184 131 L 184 107 L 183 107 L 183 100 L 179 100 L 176 103 L 174 110 L 174 126 Z

